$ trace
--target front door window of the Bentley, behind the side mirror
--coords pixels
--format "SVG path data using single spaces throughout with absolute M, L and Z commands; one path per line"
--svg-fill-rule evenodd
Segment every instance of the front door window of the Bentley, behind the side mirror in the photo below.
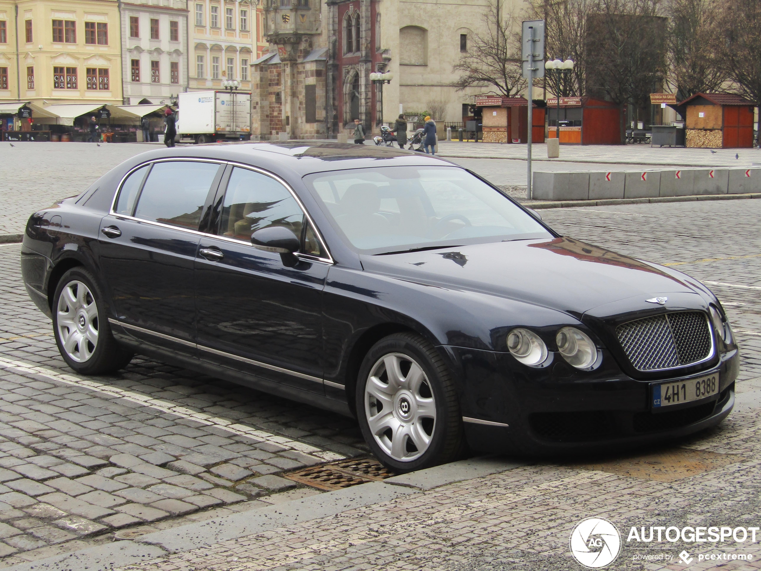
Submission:
M 262 228 L 282 226 L 301 238 L 304 212 L 281 183 L 265 174 L 235 167 L 219 226 L 219 234 L 251 242 L 251 234 Z

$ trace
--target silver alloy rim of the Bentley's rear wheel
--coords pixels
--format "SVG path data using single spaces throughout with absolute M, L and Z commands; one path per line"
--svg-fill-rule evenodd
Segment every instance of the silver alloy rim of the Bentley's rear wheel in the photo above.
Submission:
M 86 362 L 97 347 L 95 297 L 82 282 L 68 282 L 58 298 L 58 336 L 72 361 Z

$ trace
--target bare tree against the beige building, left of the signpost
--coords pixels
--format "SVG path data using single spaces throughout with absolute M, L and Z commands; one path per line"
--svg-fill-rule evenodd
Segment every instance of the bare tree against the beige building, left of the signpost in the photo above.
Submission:
M 512 97 L 526 85 L 521 76 L 521 37 L 515 32 L 514 14 L 504 13 L 502 0 L 491 0 L 486 14 L 486 32 L 474 33 L 468 52 L 452 68 L 460 72 L 454 87 L 479 86 L 489 88 L 489 93 Z

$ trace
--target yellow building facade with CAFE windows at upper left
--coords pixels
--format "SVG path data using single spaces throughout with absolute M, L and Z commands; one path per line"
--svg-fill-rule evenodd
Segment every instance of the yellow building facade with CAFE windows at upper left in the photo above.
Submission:
M 0 0 L 0 101 L 122 104 L 116 0 Z

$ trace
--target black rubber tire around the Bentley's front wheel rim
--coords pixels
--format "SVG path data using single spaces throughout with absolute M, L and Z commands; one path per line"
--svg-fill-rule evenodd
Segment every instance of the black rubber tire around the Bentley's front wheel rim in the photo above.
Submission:
M 409 459 L 394 458 L 390 454 L 390 451 L 392 451 L 391 447 L 393 447 L 392 429 L 387 429 L 383 435 L 376 437 L 368 420 L 368 414 L 373 419 L 376 417 L 380 418 L 381 411 L 385 410 L 385 407 L 382 405 L 381 409 L 378 409 L 377 399 L 365 390 L 368 387 L 371 372 L 377 372 L 379 367 L 385 369 L 385 365 L 381 365 L 381 359 L 384 357 L 398 359 L 398 362 L 401 363 L 400 371 L 406 377 L 405 382 L 411 378 L 412 364 L 419 365 L 419 368 L 422 369 L 425 375 L 425 380 L 421 381 L 419 385 L 421 388 L 417 392 L 419 394 L 425 392 L 423 396 L 426 400 L 427 395 L 430 394 L 433 400 L 433 408 L 435 408 L 435 419 L 405 420 L 403 419 L 402 412 L 403 400 L 412 400 L 414 395 L 407 399 L 406 395 L 402 394 L 406 391 L 405 385 L 402 384 L 402 389 L 396 391 L 396 396 L 390 397 L 390 403 L 393 403 L 393 405 L 390 405 L 392 410 L 388 410 L 386 413 L 387 418 L 390 419 L 389 422 L 407 423 L 407 426 L 416 424 L 425 430 L 429 438 L 427 448 L 424 448 L 424 451 L 419 453 L 418 448 L 412 442 L 412 436 L 406 436 L 404 435 L 405 433 L 400 432 L 403 436 L 399 442 L 406 441 L 404 453 L 410 455 Z M 408 361 L 410 363 L 409 368 L 405 372 L 403 370 L 404 363 Z M 377 378 L 382 380 L 384 375 L 387 375 L 387 372 L 384 372 Z M 409 383 L 412 383 L 412 381 L 409 381 Z M 425 385 L 428 386 L 427 389 L 425 389 Z M 457 398 L 457 391 L 451 372 L 434 346 L 419 335 L 415 333 L 394 333 L 375 343 L 362 361 L 355 395 L 357 418 L 362 435 L 378 460 L 391 470 L 398 473 L 421 470 L 422 468 L 457 460 L 465 454 L 467 446 L 463 434 L 460 403 Z M 374 401 L 374 404 L 369 404 L 371 401 Z M 419 402 L 424 402 L 424 400 L 419 400 Z M 414 407 L 415 411 L 417 411 L 417 406 L 417 404 L 413 405 L 409 402 L 406 404 L 407 410 Z M 375 414 L 372 414 L 373 411 L 375 411 Z M 391 418 L 389 413 L 392 413 L 394 418 Z M 412 413 L 410 412 L 410 414 Z M 391 430 L 391 435 L 388 434 L 389 430 Z M 410 444 L 410 442 L 412 443 Z M 413 448 L 413 450 L 410 451 L 409 448 Z M 415 456 L 416 453 L 419 455 Z

